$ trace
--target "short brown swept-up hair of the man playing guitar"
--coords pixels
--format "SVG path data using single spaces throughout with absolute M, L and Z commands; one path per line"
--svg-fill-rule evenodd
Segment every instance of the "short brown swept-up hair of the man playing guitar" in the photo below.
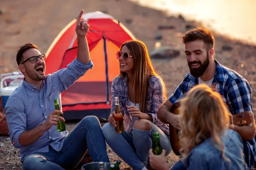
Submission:
M 195 41 L 195 40 L 203 40 L 207 45 L 207 51 L 210 48 L 214 48 L 214 37 L 211 31 L 205 28 L 195 28 L 190 31 L 187 31 L 181 38 L 182 42 L 185 44 L 186 42 Z

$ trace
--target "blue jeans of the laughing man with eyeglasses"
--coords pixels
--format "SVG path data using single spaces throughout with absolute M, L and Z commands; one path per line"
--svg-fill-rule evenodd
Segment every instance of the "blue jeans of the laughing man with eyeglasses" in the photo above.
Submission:
M 86 116 L 64 139 L 57 152 L 49 145 L 49 153 L 35 153 L 23 161 L 23 170 L 74 169 L 88 152 L 93 161 L 110 162 L 99 119 Z

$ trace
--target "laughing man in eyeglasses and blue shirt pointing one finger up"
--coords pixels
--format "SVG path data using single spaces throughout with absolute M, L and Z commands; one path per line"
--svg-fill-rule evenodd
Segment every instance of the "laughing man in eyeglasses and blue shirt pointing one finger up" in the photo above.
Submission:
M 56 124 L 63 114 L 55 111 L 54 99 L 61 104 L 61 93 L 88 69 L 93 68 L 86 35 L 89 25 L 77 19 L 77 57 L 67 68 L 45 75 L 45 55 L 33 44 L 17 51 L 17 64 L 24 74 L 22 85 L 6 103 L 5 113 L 12 144 L 20 149 L 24 170 L 74 169 L 88 150 L 93 161 L 110 162 L 105 138 L 96 116 L 87 116 L 68 133 L 58 132 Z M 61 107 L 61 105 L 60 105 Z

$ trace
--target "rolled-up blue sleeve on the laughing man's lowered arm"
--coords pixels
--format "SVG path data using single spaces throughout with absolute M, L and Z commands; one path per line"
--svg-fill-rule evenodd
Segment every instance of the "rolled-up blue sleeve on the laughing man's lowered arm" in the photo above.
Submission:
M 20 97 L 16 95 L 9 97 L 6 103 L 5 113 L 12 145 L 15 148 L 23 147 L 19 143 L 19 136 L 20 133 L 26 130 L 26 113 Z

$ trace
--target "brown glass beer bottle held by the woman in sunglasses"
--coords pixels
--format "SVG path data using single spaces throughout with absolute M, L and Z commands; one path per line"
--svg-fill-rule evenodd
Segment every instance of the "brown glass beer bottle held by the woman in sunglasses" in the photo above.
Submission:
M 115 112 L 116 116 L 114 116 L 114 119 L 116 121 L 116 133 L 122 133 L 124 132 L 124 119 L 122 116 L 122 113 L 120 111 L 120 105 L 119 105 L 119 99 L 118 97 L 115 97 Z

